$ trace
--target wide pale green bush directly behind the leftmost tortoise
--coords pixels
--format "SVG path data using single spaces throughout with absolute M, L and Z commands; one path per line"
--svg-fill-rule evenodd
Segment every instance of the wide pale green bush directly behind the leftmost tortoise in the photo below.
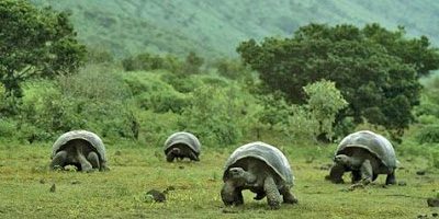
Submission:
M 21 110 L 24 138 L 46 140 L 72 129 L 109 138 L 137 135 L 128 89 L 120 74 L 104 67 L 26 83 Z

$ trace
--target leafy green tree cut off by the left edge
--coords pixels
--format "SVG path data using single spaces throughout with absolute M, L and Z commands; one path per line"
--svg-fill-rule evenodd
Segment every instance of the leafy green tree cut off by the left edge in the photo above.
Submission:
M 86 54 L 67 13 L 26 1 L 0 1 L 0 82 L 15 96 L 21 96 L 24 80 L 70 72 Z

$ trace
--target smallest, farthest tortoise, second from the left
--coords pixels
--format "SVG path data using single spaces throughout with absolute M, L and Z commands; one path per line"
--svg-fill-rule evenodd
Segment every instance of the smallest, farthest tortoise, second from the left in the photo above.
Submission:
M 172 162 L 176 158 L 179 160 L 189 158 L 192 161 L 200 161 L 201 143 L 190 132 L 175 132 L 165 141 L 164 151 L 168 162 Z

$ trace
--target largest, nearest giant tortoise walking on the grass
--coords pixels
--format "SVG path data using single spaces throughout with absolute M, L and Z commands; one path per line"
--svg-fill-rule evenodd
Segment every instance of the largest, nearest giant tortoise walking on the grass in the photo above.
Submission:
M 284 203 L 297 203 L 290 192 L 294 176 L 285 155 L 264 142 L 256 141 L 236 149 L 224 166 L 223 181 L 221 197 L 226 206 L 243 205 L 244 189 L 256 193 L 256 200 L 267 196 L 271 208 L 279 208 L 281 195 Z

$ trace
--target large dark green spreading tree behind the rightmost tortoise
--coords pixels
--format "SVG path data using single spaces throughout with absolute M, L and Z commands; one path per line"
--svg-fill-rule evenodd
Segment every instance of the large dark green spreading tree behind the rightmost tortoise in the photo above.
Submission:
M 305 103 L 302 87 L 326 79 L 336 82 L 349 107 L 337 123 L 351 116 L 368 119 L 402 135 L 419 103 L 419 76 L 439 67 L 439 54 L 426 37 L 405 39 L 404 31 L 390 32 L 378 24 L 309 24 L 292 38 L 241 43 L 243 60 L 260 72 L 263 84 L 281 91 L 291 103 Z

